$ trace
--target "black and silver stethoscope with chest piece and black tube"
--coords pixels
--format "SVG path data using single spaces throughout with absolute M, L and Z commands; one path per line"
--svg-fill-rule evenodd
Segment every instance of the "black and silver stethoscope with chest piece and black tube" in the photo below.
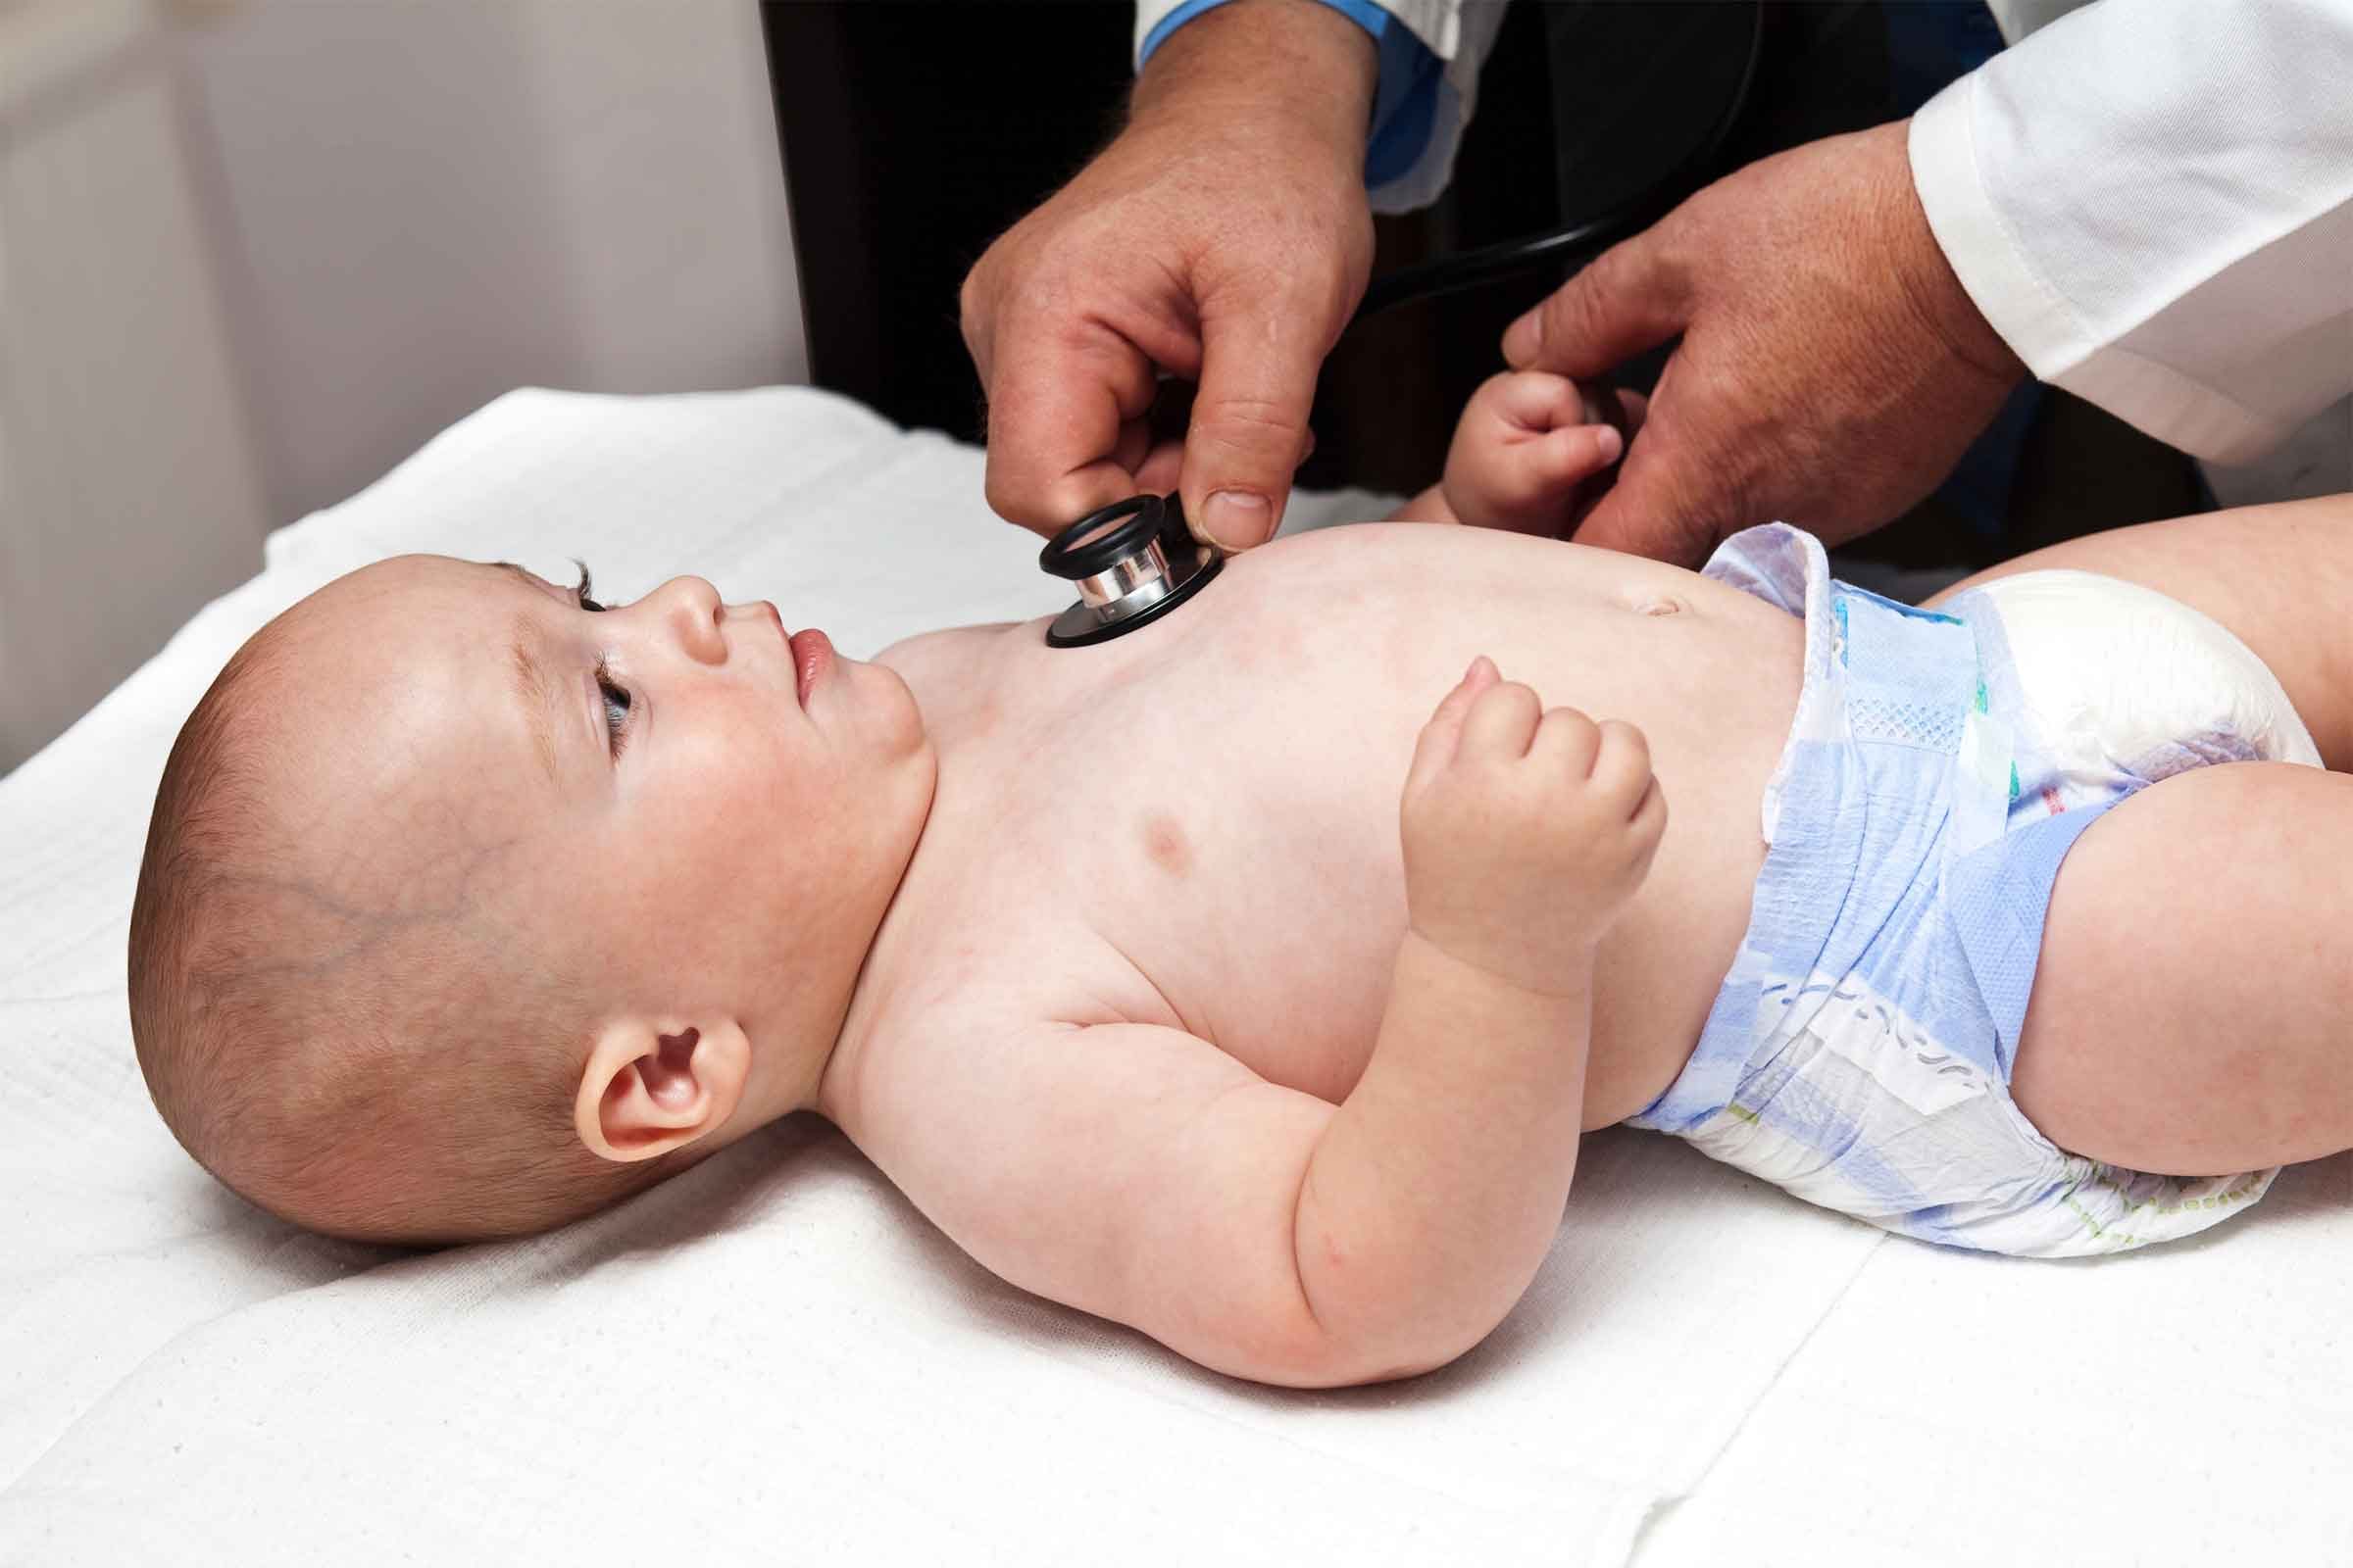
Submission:
M 1647 228 L 1699 188 L 1699 174 L 1715 160 L 1725 136 L 1741 118 L 1741 108 L 1748 106 L 1748 85 L 1755 80 L 1762 42 L 1765 7 L 1760 2 L 1748 33 L 1748 61 L 1741 66 L 1739 87 L 1722 115 L 1699 150 L 1647 190 L 1598 219 L 1384 273 L 1365 289 L 1365 301 L 1348 317 L 1348 327 L 1409 299 L 1473 289 L 1539 266 L 1558 266 L 1567 280 L 1569 273 L 1626 235 Z M 1141 630 L 1207 588 L 1224 564 L 1224 550 L 1193 538 L 1193 531 L 1186 529 L 1184 505 L 1176 496 L 1129 496 L 1096 508 L 1049 538 L 1038 552 L 1042 571 L 1078 583 L 1078 602 L 1054 616 L 1045 642 L 1052 649 L 1082 649 Z

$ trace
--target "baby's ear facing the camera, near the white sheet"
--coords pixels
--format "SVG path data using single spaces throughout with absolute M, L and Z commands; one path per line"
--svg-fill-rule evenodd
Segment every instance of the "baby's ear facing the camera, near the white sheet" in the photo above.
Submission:
M 732 1018 L 626 1018 L 598 1032 L 572 1124 L 605 1159 L 668 1154 L 727 1124 L 751 1077 L 751 1039 Z

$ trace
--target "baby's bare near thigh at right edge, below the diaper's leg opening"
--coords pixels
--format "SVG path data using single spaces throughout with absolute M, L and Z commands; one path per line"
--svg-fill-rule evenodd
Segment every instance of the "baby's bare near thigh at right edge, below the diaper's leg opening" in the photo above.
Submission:
M 2162 1175 L 2353 1147 L 2353 776 L 2235 762 L 2092 823 L 2052 886 L 2012 1095 Z

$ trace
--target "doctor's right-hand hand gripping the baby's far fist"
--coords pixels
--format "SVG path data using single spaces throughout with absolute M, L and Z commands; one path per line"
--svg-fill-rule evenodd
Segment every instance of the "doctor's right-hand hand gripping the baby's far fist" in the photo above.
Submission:
M 1579 543 L 1697 567 L 1786 520 L 1826 543 L 1927 496 L 2026 367 L 1946 263 L 1906 122 L 1715 181 L 1504 334 L 1579 381 L 1682 334 Z

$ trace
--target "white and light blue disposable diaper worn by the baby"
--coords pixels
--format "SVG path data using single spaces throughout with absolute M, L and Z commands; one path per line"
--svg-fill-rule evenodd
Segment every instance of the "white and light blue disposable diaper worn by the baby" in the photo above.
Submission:
M 2106 1166 L 2009 1098 L 2075 837 L 2193 766 L 2320 762 L 2254 651 L 2087 571 L 1894 604 L 1779 524 L 1725 541 L 1708 574 L 1805 616 L 1805 684 L 1741 950 L 1692 1060 L 1631 1124 L 1873 1225 L 2012 1255 L 2137 1248 L 2261 1199 L 2275 1171 Z

